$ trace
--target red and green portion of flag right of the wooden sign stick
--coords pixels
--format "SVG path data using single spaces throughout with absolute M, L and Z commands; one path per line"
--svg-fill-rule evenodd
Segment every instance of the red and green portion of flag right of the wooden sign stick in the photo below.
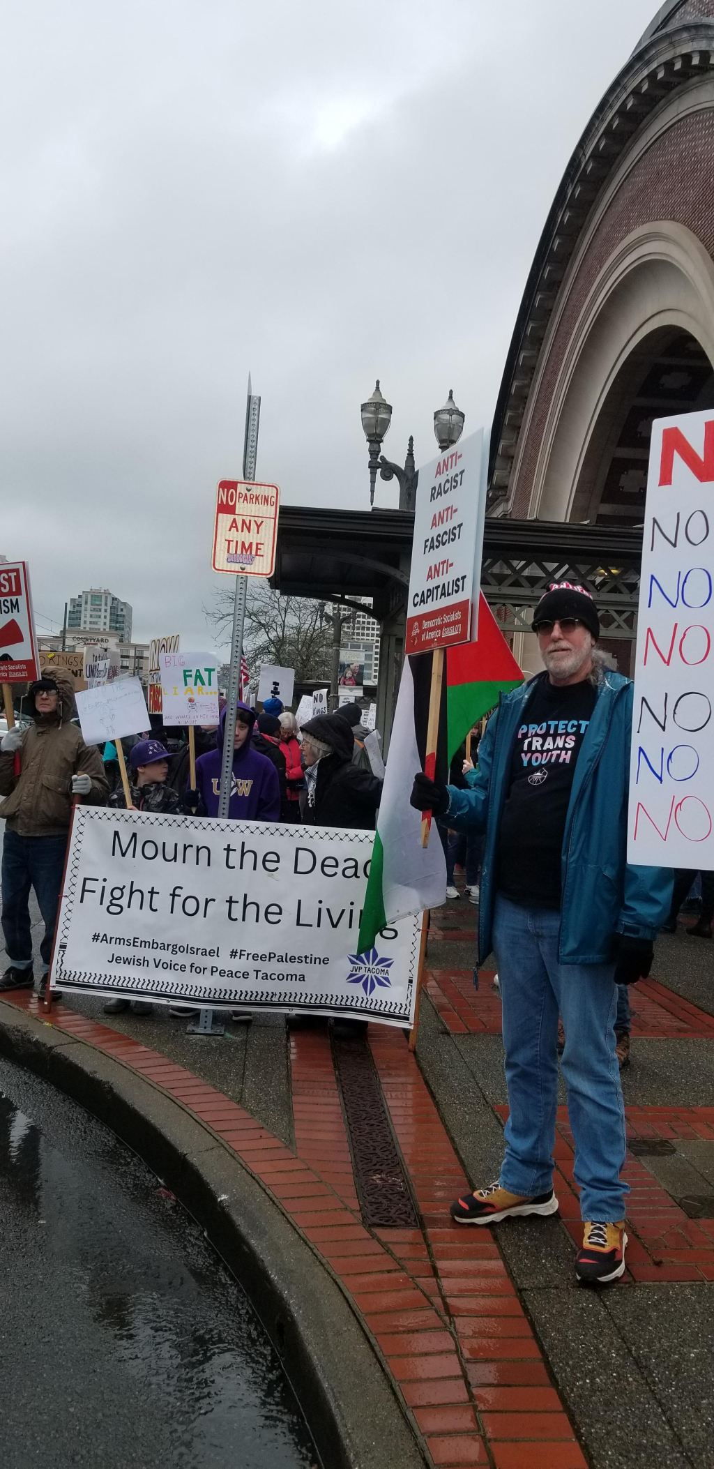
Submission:
M 447 651 L 447 758 L 455 755 L 476 720 L 523 683 L 523 674 L 480 592 L 479 636 Z

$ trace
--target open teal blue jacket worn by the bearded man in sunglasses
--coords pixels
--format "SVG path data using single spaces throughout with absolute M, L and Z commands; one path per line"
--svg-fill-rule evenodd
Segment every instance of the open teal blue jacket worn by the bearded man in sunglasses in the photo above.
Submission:
M 535 679 L 501 698 L 479 745 L 479 765 L 469 790 L 450 786 L 451 805 L 441 821 L 454 831 L 485 831 L 480 873 L 479 962 L 491 953 L 498 829 L 510 784 L 516 732 L 523 723 Z M 563 839 L 561 964 L 607 964 L 614 934 L 655 939 L 666 923 L 673 871 L 630 867 L 627 790 L 630 777 L 633 685 L 605 670 L 583 736 Z

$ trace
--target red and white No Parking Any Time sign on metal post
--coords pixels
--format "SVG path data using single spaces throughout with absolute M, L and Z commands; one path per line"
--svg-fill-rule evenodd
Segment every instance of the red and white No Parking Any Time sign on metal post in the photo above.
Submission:
M 278 541 L 278 485 L 220 479 L 213 527 L 214 571 L 272 576 Z

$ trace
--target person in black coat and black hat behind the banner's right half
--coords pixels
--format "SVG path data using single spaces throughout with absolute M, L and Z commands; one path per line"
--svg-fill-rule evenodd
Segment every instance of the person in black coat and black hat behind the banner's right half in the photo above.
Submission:
M 341 714 L 319 714 L 303 724 L 306 790 L 300 795 L 304 826 L 375 830 L 382 782 L 353 764 L 354 736 Z

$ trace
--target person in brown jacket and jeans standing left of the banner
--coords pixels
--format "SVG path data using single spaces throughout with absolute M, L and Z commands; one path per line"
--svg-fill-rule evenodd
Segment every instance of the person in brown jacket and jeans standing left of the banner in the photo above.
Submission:
M 0 743 L 3 933 L 10 961 L 0 990 L 32 987 L 31 887 L 44 918 L 41 987 L 47 983 L 72 798 L 104 805 L 109 795 L 98 749 L 85 745 L 69 723 L 75 708 L 71 676 L 53 668 L 51 677 L 31 685 L 29 699 L 34 724 L 7 730 Z

